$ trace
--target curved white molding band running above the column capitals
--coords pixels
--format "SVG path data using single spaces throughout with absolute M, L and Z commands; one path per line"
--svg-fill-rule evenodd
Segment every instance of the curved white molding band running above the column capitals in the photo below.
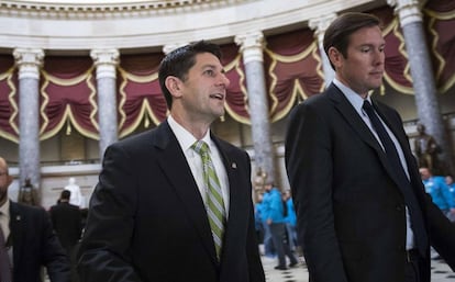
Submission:
M 385 4 L 377 0 L 289 0 L 286 4 L 276 0 L 187 0 L 178 5 L 176 0 L 89 3 L 96 1 L 0 0 L 0 26 L 8 26 L 0 31 L 0 53 L 22 47 L 42 48 L 47 55 L 88 55 L 93 48 L 135 53 L 163 50 L 165 45 L 199 40 L 231 43 L 234 36 L 246 32 L 262 31 L 268 36 L 280 30 L 304 27 L 309 19 L 331 9 L 367 10 Z M 166 5 L 151 8 L 160 2 Z

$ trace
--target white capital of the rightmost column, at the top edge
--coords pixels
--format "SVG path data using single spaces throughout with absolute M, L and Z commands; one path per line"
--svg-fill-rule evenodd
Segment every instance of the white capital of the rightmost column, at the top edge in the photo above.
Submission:
M 403 27 L 413 22 L 422 22 L 422 8 L 426 0 L 387 0 L 387 3 L 395 7 L 398 13 L 400 25 Z

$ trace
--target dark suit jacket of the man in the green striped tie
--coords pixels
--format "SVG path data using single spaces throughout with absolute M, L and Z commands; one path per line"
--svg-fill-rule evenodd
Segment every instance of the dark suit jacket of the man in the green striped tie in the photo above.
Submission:
M 262 282 L 247 154 L 213 137 L 230 183 L 221 263 L 203 201 L 167 122 L 110 146 L 79 251 L 81 281 Z

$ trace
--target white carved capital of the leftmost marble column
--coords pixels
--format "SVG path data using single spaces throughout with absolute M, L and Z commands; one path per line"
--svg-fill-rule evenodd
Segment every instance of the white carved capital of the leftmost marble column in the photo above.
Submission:
M 44 50 L 38 48 L 15 48 L 15 64 L 19 66 L 19 79 L 40 79 L 40 68 L 43 66 Z

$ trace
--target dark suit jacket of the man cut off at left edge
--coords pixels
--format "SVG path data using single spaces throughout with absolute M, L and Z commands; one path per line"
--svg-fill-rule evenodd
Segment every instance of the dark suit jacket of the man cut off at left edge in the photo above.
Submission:
M 52 282 L 69 282 L 68 258 L 44 208 L 10 202 L 10 230 L 14 282 L 42 281 L 42 267 Z

